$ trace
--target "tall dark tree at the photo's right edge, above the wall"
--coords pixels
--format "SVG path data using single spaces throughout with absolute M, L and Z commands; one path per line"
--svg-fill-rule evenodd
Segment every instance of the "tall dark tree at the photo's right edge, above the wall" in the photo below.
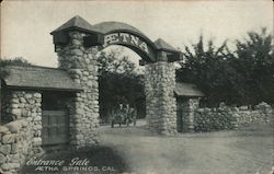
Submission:
M 237 73 L 243 77 L 242 89 L 246 103 L 254 105 L 259 102 L 274 103 L 274 47 L 272 35 L 266 28 L 260 33 L 249 32 L 243 40 L 237 40 L 233 53 Z

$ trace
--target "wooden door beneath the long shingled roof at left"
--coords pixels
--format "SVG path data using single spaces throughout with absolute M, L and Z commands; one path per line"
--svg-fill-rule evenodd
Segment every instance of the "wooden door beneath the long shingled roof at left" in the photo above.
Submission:
M 64 111 L 43 111 L 42 142 L 44 146 L 62 144 L 69 141 L 69 119 Z

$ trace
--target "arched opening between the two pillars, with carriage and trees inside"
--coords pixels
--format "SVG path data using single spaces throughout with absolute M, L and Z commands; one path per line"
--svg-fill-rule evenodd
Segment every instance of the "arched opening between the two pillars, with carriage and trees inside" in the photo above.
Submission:
M 121 45 L 98 53 L 100 125 L 134 126 L 145 118 L 145 67 L 139 60 L 138 54 Z

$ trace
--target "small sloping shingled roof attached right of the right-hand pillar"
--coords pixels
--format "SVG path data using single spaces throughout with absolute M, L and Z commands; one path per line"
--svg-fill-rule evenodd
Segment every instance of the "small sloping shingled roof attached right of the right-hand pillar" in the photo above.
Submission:
M 195 84 L 191 84 L 191 83 L 176 82 L 176 88 L 174 92 L 178 96 L 189 96 L 189 97 L 205 96 L 205 94 L 202 91 L 199 91 Z

